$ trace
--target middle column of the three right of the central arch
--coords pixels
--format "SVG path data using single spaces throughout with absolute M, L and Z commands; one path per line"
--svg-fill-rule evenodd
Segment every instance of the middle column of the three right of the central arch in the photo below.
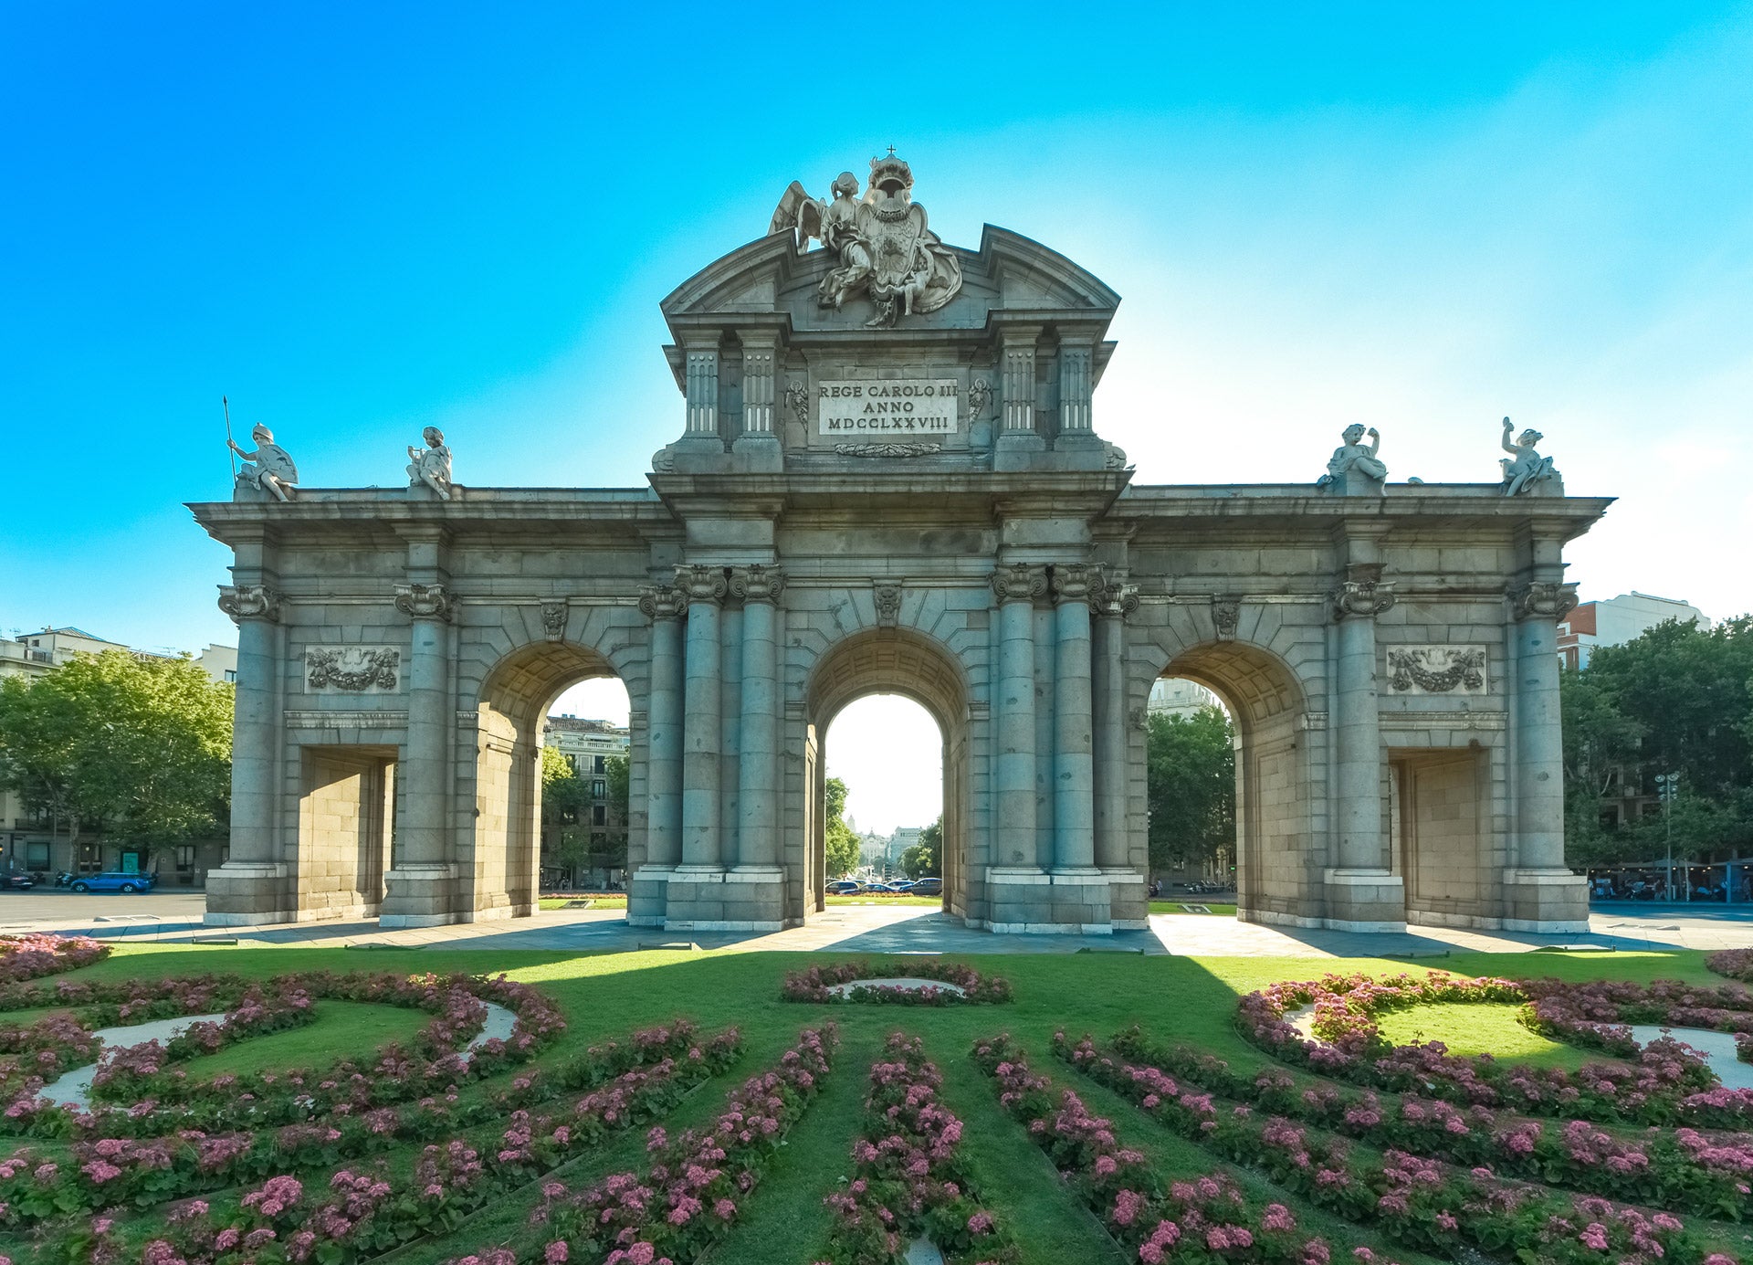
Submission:
M 1096 868 L 1090 584 L 1082 563 L 1054 567 L 1054 868 Z

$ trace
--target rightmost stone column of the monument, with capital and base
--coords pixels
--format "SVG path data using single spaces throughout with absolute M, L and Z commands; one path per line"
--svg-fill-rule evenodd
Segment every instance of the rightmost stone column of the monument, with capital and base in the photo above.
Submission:
M 1516 837 L 1504 884 L 1508 930 L 1588 930 L 1586 879 L 1564 865 L 1564 730 L 1555 625 L 1572 609 L 1574 584 L 1534 581 L 1509 593 Z

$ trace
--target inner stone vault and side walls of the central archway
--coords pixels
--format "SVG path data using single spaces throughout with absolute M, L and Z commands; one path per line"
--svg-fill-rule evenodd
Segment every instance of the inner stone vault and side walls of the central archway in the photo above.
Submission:
M 866 695 L 912 698 L 943 735 L 943 912 L 968 916 L 968 683 L 955 656 L 905 628 L 854 633 L 829 649 L 810 674 L 805 702 L 805 902 L 826 909 L 829 723 Z

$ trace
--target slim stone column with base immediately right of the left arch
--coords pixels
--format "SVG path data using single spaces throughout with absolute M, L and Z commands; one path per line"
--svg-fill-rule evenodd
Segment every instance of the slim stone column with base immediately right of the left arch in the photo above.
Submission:
M 663 926 L 670 872 L 682 861 L 682 614 L 687 595 L 670 584 L 640 590 L 652 621 L 650 700 L 645 711 L 645 863 L 628 890 L 628 921 Z

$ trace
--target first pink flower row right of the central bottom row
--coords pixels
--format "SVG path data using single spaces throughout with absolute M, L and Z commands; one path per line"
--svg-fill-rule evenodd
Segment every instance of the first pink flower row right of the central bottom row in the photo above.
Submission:
M 1273 1265 L 1327 1265 L 1331 1260 L 1324 1239 L 1297 1232 L 1290 1209 L 1267 1204 L 1255 1216 L 1222 1174 L 1173 1183 L 1164 1195 L 1145 1156 L 1122 1147 L 1113 1126 L 1090 1116 L 1075 1093 L 1066 1090 L 1055 1097 L 1052 1083 L 1029 1070 L 1008 1035 L 976 1042 L 973 1056 L 980 1070 L 997 1081 L 999 1105 L 1029 1130 L 1085 1205 L 1145 1265 L 1180 1254 Z

